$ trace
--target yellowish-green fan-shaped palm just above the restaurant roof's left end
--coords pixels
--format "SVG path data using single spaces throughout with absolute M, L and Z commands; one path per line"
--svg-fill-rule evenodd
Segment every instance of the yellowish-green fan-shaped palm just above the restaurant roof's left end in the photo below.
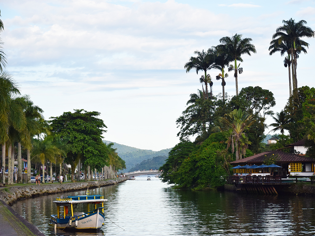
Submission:
M 229 132 L 229 138 L 226 141 L 227 148 L 232 146 L 232 153 L 234 152 L 236 160 L 239 160 L 242 155 L 246 155 L 246 149 L 248 145 L 251 144 L 245 131 L 254 124 L 256 121 L 252 115 L 247 114 L 247 112 L 242 111 L 242 109 L 234 109 L 229 114 L 225 114 L 221 117 L 222 130 Z

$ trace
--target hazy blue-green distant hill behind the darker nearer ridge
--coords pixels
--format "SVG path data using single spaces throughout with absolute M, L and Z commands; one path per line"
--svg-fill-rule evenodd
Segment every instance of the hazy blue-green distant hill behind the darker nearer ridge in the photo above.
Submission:
M 103 140 L 104 143 L 114 143 L 113 148 L 117 148 L 118 156 L 126 162 L 126 172 L 137 164 L 140 164 L 143 160 L 152 159 L 157 156 L 168 157 L 169 149 L 163 149 L 161 151 L 144 150 L 139 148 L 129 147 L 123 144 Z M 153 167 L 152 167 L 153 168 Z

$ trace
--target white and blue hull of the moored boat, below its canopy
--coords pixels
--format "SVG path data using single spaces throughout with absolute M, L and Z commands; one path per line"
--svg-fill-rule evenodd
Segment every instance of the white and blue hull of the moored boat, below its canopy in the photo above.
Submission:
M 57 218 L 52 215 L 50 222 L 56 229 L 71 231 L 97 231 L 105 220 L 104 213 L 99 209 L 94 213 L 86 213 L 80 216 Z

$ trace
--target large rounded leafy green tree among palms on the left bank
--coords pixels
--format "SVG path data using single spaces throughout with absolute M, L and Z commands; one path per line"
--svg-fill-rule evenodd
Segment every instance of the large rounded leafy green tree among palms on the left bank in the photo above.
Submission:
M 69 138 L 73 150 L 66 157 L 66 162 L 71 164 L 72 180 L 75 166 L 78 160 L 92 169 L 100 169 L 106 165 L 108 155 L 106 146 L 102 142 L 102 133 L 107 128 L 104 122 L 97 118 L 100 113 L 96 111 L 87 112 L 83 109 L 64 112 L 63 115 L 50 121 L 52 132 L 60 134 L 61 138 Z

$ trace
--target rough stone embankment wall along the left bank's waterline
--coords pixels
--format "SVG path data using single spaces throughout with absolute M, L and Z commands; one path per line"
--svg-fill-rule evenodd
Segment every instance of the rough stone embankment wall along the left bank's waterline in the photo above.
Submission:
M 42 185 L 26 185 L 16 186 L 10 188 L 3 188 L 0 190 L 0 200 L 8 205 L 13 205 L 14 202 L 21 198 L 30 198 L 47 194 L 56 194 L 62 192 L 71 192 L 76 190 L 91 188 L 99 188 L 108 185 L 115 185 L 126 181 L 128 178 L 120 178 L 114 180 L 100 180 L 90 182 L 77 183 L 56 183 L 56 184 L 42 184 Z

